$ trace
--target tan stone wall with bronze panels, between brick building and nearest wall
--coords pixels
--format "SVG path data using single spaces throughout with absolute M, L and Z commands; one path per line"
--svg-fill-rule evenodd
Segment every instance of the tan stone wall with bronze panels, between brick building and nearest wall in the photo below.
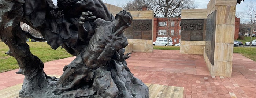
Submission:
M 203 55 L 205 46 L 207 9 L 190 9 L 181 12 L 181 54 Z

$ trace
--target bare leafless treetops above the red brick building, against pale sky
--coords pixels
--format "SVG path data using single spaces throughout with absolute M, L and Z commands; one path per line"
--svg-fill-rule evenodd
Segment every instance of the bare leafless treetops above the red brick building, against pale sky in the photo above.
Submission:
M 146 5 L 154 11 L 155 17 L 176 17 L 181 15 L 181 9 L 192 9 L 194 0 L 134 0 L 123 6 L 127 11 L 140 11 Z

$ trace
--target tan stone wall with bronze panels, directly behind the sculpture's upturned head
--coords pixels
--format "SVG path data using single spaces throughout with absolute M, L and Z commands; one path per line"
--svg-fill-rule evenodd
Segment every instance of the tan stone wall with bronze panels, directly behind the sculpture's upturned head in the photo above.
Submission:
M 131 27 L 125 29 L 125 36 L 129 45 L 125 48 L 129 52 L 153 51 L 153 11 L 129 11 L 133 16 Z

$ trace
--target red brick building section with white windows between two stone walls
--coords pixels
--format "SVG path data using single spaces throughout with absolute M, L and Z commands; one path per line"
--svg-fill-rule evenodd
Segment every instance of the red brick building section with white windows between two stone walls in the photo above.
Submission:
M 154 39 L 157 37 L 171 37 L 173 45 L 181 40 L 181 17 L 154 18 Z

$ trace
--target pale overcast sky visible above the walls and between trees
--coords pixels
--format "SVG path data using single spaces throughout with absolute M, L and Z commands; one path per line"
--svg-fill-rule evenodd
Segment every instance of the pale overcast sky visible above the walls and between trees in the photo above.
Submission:
M 122 7 L 123 5 L 125 5 L 127 2 L 131 1 L 131 0 L 105 0 L 108 4 L 112 4 L 112 5 L 116 5 L 119 7 Z M 209 3 L 210 0 L 194 0 L 194 4 L 197 6 L 197 9 L 201 9 L 201 8 L 207 8 L 207 4 Z M 237 4 L 237 8 L 236 8 L 236 12 L 244 12 L 246 10 L 245 7 L 245 3 L 249 4 L 250 0 L 244 0 L 244 2 L 241 2 L 240 4 Z M 252 0 L 252 1 L 256 1 L 256 0 Z M 243 19 L 244 17 L 242 17 L 240 20 L 244 21 L 245 19 Z

